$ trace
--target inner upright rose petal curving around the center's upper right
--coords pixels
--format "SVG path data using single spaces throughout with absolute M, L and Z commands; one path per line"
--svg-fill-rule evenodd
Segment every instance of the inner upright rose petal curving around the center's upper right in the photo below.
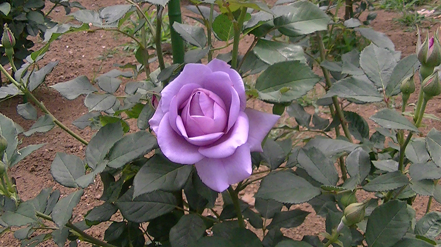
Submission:
M 237 116 L 241 109 L 240 98 L 236 90 L 233 88 L 230 77 L 225 72 L 213 72 L 206 77 L 204 88 L 212 91 L 225 103 L 228 109 L 228 127 L 227 131 L 236 122 Z

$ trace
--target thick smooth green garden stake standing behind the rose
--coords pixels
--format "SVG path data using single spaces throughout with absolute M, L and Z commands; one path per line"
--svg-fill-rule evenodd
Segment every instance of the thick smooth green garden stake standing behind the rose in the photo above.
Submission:
M 172 38 L 173 63 L 184 63 L 184 41 L 173 28 L 174 22 L 182 23 L 179 0 L 170 0 L 169 2 L 169 21 L 171 27 L 170 35 Z

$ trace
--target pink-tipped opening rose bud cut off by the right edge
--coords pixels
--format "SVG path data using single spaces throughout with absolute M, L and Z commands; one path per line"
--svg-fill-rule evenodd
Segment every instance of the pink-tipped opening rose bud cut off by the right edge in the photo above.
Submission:
M 433 68 L 441 64 L 441 44 L 438 38 L 438 30 L 435 36 L 430 39 L 429 33 L 427 33 L 426 40 L 421 44 L 421 36 L 418 29 L 417 57 L 419 62 L 421 62 L 421 67 Z

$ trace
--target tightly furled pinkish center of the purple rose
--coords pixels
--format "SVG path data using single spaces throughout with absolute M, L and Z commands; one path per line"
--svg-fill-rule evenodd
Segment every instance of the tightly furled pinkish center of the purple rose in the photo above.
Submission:
M 228 114 L 225 104 L 215 93 L 197 88 L 180 107 L 179 115 L 188 137 L 223 132 Z

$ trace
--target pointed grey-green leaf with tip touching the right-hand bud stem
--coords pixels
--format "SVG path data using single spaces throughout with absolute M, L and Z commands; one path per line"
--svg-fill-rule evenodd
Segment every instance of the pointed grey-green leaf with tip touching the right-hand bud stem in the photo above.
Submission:
M 391 109 L 382 109 L 369 118 L 380 126 L 388 129 L 407 129 L 415 132 L 419 132 L 417 127 L 411 123 L 407 118 Z

